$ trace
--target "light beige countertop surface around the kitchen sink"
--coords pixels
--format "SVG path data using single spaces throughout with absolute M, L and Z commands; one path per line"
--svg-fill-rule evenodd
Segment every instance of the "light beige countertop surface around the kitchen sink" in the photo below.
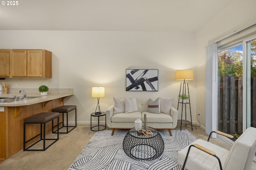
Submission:
M 22 96 L 21 94 L 15 94 L 17 97 Z M 50 100 L 58 99 L 63 100 L 68 96 L 72 96 L 73 93 L 64 93 L 64 94 L 48 94 L 47 96 L 40 96 L 40 94 L 27 94 L 27 96 L 38 96 L 38 98 L 32 98 L 27 100 L 21 100 L 16 102 L 9 103 L 0 103 L 0 107 L 15 107 L 15 106 L 28 106 L 32 104 L 37 104 L 41 102 L 47 102 Z M 0 98 L 13 98 L 12 94 L 0 94 Z

